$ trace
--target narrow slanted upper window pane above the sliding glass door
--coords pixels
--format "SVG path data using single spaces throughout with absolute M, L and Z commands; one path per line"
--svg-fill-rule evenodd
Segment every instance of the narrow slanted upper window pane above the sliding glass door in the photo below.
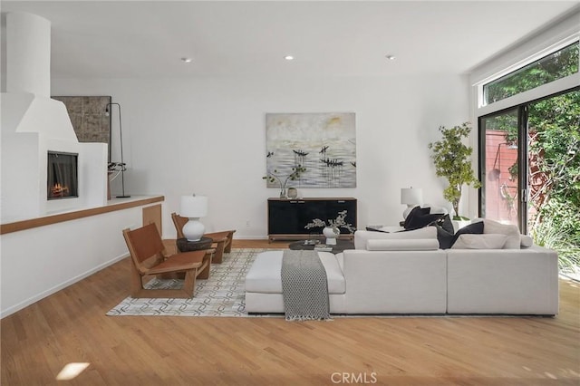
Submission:
M 483 85 L 484 104 L 554 82 L 578 72 L 578 42 Z

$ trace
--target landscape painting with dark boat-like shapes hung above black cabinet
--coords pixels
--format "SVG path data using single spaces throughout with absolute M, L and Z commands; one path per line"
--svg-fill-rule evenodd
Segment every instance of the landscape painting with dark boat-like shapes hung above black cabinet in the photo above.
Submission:
M 286 188 L 355 188 L 354 113 L 267 113 L 267 173 L 284 181 L 296 167 L 305 170 Z M 268 180 L 267 187 L 280 183 Z

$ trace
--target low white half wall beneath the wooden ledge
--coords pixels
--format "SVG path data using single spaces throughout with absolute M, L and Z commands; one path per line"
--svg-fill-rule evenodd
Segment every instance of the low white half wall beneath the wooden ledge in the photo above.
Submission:
M 0 316 L 13 314 L 128 256 L 121 231 L 142 225 L 142 208 L 2 235 Z

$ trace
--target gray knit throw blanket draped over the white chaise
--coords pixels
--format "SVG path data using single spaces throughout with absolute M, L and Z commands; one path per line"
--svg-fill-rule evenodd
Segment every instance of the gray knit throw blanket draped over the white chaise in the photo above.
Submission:
M 287 321 L 330 319 L 328 281 L 317 252 L 285 250 L 281 274 Z

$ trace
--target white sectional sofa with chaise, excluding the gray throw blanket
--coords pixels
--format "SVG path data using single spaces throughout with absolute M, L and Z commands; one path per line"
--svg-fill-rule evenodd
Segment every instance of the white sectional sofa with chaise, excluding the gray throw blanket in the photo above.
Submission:
M 319 252 L 331 314 L 536 314 L 558 312 L 556 252 L 439 249 L 437 230 L 357 231 L 355 249 Z M 246 277 L 248 313 L 284 313 L 282 251 L 256 257 Z

